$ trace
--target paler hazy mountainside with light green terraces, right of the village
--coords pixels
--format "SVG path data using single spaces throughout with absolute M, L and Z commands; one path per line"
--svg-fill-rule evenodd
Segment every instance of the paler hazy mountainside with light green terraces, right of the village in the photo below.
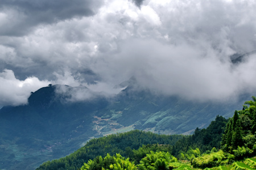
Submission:
M 232 109 L 241 109 L 238 105 L 251 97 L 241 97 L 234 103 L 198 103 L 135 89 L 128 86 L 117 95 L 115 102 L 96 115 L 116 120 L 123 126 L 134 125 L 135 129 L 161 134 L 191 134 L 197 127 L 206 128 L 218 114 L 232 116 Z

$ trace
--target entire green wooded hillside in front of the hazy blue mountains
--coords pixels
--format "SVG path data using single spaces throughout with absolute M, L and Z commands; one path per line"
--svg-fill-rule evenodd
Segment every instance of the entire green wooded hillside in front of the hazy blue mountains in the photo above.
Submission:
M 227 124 L 217 116 L 207 129 L 191 136 L 138 130 L 113 134 L 92 139 L 73 154 L 37 169 L 255 169 L 255 121 L 253 96 Z

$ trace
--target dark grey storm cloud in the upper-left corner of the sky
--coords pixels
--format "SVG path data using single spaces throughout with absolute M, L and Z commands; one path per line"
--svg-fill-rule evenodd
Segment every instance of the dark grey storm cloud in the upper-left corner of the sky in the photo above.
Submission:
M 22 36 L 38 24 L 51 24 L 73 17 L 92 16 L 102 0 L 2 0 L 0 10 L 4 27 L 2 36 Z

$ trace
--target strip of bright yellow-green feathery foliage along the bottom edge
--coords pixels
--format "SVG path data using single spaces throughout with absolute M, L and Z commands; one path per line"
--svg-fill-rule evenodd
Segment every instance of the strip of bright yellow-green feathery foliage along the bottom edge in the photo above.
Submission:
M 88 163 L 84 163 L 81 170 L 129 170 L 129 169 L 139 169 L 139 170 L 192 170 L 192 169 L 245 169 L 251 170 L 255 169 L 255 158 L 246 159 L 243 162 L 234 162 L 233 164 L 226 164 L 225 159 L 227 159 L 227 154 L 222 150 L 217 152 L 212 152 L 210 154 L 205 154 L 198 158 L 193 159 L 192 164 L 189 162 L 181 162 L 177 160 L 174 156 L 170 155 L 168 152 L 150 152 L 144 158 L 141 159 L 139 164 L 130 162 L 129 158 L 124 158 L 120 154 L 110 156 L 109 154 L 102 158 L 97 156 L 93 160 L 89 160 Z

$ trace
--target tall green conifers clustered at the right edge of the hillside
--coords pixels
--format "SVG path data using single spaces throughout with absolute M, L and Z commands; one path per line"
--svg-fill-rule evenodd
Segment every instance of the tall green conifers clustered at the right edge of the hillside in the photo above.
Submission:
M 235 111 L 222 136 L 222 150 L 236 159 L 255 155 L 256 151 L 256 97 L 246 101 L 241 111 Z

